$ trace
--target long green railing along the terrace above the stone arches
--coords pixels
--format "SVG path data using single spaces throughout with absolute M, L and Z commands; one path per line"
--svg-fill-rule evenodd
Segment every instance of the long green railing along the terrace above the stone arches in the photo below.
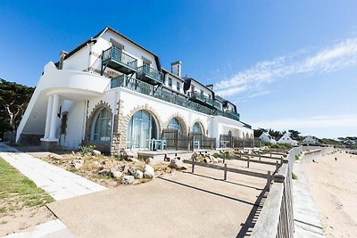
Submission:
M 132 91 L 135 91 L 135 92 L 138 92 L 141 94 L 150 95 L 154 98 L 158 98 L 162 101 L 165 101 L 168 103 L 173 103 L 173 104 L 185 107 L 187 109 L 199 111 L 204 114 L 223 116 L 223 117 L 226 117 L 229 119 L 235 119 L 235 120 L 239 121 L 239 114 L 237 114 L 237 113 L 233 114 L 233 113 L 229 113 L 227 111 L 213 110 L 211 108 L 203 106 L 200 103 L 195 103 L 193 101 L 187 100 L 187 98 L 184 96 L 180 96 L 178 94 L 172 94 L 169 91 L 163 90 L 162 88 L 158 88 L 156 86 L 145 83 L 145 82 L 138 80 L 136 78 L 131 78 L 127 75 L 121 75 L 118 78 L 112 78 L 111 88 L 115 88 L 115 87 L 119 87 L 119 86 L 128 88 Z M 244 123 L 244 122 L 242 122 L 242 123 Z M 247 124 L 245 124 L 245 125 L 249 126 Z

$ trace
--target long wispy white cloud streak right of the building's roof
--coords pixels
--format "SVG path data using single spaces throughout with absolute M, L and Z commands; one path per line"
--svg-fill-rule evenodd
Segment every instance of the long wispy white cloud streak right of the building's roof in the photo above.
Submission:
M 312 71 L 330 72 L 357 65 L 357 38 L 346 39 L 317 53 L 308 54 L 307 50 L 302 50 L 289 56 L 258 62 L 252 68 L 216 83 L 217 93 L 231 96 L 253 91 L 286 76 Z

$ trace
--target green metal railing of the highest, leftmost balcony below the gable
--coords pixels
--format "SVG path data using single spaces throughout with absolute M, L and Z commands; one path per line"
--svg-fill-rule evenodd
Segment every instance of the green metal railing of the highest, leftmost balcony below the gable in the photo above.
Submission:
M 122 52 L 115 46 L 106 49 L 102 55 L 102 62 L 119 62 L 132 70 L 137 71 L 137 59 L 131 57 L 129 54 Z

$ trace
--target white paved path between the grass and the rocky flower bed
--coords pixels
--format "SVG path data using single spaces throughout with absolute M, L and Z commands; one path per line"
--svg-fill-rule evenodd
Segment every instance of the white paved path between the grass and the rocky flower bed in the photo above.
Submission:
M 21 174 L 29 177 L 56 201 L 106 189 L 102 185 L 49 164 L 44 160 L 39 160 L 28 153 L 20 152 L 6 144 L 0 144 L 0 157 L 11 164 L 12 167 L 17 168 Z

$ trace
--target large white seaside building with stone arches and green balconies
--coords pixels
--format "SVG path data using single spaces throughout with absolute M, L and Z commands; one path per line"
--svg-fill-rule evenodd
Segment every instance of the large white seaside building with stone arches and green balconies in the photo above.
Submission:
M 158 56 L 106 27 L 45 65 L 16 142 L 116 153 L 170 143 L 211 148 L 228 133 L 253 139 L 237 107 L 212 87 L 182 78 L 181 62 L 162 69 Z

